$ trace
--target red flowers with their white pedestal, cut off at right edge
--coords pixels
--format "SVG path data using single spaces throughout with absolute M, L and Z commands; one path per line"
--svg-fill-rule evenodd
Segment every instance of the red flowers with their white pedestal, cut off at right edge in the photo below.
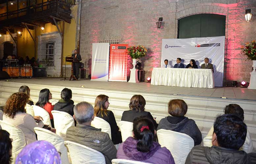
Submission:
M 250 78 L 250 84 L 248 86 L 249 89 L 256 89 L 256 41 L 253 40 L 250 43 L 246 43 L 245 47 L 242 47 L 242 54 L 247 56 L 248 60 L 252 60 L 252 67 L 253 70 L 250 73 L 251 78 Z

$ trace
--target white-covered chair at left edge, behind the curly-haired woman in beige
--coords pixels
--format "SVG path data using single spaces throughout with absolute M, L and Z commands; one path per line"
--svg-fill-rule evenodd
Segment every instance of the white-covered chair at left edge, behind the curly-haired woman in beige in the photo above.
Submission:
M 0 120 L 0 125 L 3 130 L 10 133 L 12 142 L 12 164 L 15 164 L 15 160 L 19 152 L 26 146 L 26 140 L 24 133 L 15 125 Z

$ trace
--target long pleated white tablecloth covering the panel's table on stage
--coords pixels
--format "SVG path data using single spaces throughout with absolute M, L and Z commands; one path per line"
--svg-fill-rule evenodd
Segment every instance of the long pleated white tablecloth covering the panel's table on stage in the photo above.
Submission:
M 211 69 L 153 68 L 152 85 L 214 88 Z

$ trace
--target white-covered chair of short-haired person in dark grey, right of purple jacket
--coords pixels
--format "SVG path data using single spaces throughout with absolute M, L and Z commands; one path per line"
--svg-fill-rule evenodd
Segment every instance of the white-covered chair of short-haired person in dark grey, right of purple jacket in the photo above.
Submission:
M 157 132 L 158 142 L 172 154 L 176 164 L 184 164 L 186 157 L 194 147 L 194 140 L 184 133 L 160 129 Z

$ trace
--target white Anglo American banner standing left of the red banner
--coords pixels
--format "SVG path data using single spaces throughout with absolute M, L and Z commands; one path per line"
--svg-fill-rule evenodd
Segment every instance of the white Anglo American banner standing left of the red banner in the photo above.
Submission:
M 91 81 L 108 81 L 109 43 L 93 43 Z

